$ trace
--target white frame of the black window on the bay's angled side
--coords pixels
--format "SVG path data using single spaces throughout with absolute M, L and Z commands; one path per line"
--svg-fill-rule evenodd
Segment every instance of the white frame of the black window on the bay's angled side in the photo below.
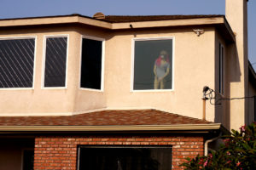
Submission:
M 94 88 L 82 88 L 81 87 L 81 71 L 82 71 L 82 53 L 83 53 L 83 38 L 96 40 L 102 42 L 102 75 L 101 75 L 101 89 L 94 89 Z M 105 39 L 101 37 L 91 37 L 82 35 L 80 38 L 80 70 L 79 70 L 79 89 L 80 90 L 87 90 L 87 91 L 95 91 L 95 92 L 103 92 L 104 91 L 104 68 L 105 68 Z

